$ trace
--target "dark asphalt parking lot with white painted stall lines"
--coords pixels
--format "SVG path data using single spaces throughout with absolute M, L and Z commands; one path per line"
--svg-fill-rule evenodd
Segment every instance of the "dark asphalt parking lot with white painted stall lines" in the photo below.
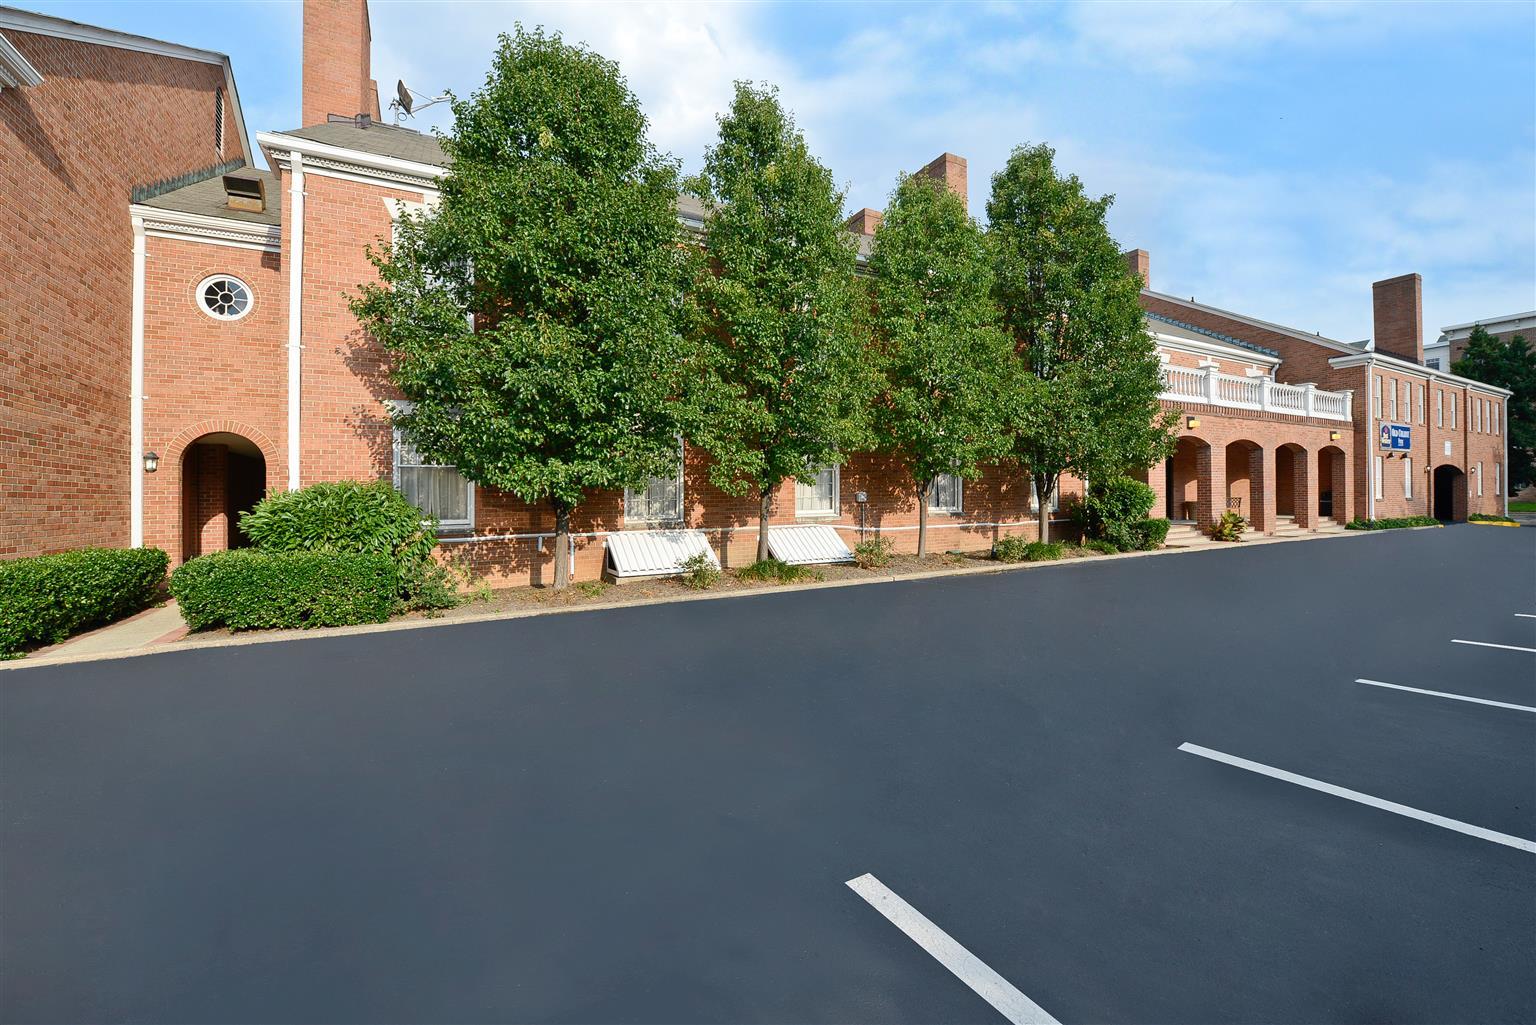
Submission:
M 1530 616 L 1453 527 L 0 673 L 0 1014 L 1531 1022 Z

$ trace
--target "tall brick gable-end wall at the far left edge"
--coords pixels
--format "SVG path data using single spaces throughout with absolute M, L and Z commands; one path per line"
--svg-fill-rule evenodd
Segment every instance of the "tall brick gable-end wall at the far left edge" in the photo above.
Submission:
M 0 556 L 129 542 L 134 184 L 241 152 L 220 66 L 8 31 L 0 92 Z

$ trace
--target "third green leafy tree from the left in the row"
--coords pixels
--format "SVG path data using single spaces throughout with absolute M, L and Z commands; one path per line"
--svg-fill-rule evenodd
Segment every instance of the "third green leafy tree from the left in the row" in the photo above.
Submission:
M 874 432 L 912 475 L 922 556 L 934 478 L 974 479 L 980 463 L 1005 452 L 1014 349 L 992 303 L 986 237 L 943 181 L 900 180 L 869 269 L 883 370 Z

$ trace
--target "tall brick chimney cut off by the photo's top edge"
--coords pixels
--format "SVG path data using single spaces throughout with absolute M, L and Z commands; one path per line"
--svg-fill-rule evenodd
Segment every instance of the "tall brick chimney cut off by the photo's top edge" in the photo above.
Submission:
M 304 0 L 304 124 L 327 114 L 379 117 L 367 0 Z

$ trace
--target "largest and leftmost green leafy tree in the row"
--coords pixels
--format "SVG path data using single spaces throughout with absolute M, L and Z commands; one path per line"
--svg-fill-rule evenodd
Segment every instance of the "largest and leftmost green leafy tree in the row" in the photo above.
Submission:
M 548 503 L 562 589 L 571 510 L 676 461 L 696 376 L 677 168 L 617 66 L 542 31 L 502 35 L 453 118 L 438 206 L 370 254 L 381 280 L 352 309 L 427 458 Z

